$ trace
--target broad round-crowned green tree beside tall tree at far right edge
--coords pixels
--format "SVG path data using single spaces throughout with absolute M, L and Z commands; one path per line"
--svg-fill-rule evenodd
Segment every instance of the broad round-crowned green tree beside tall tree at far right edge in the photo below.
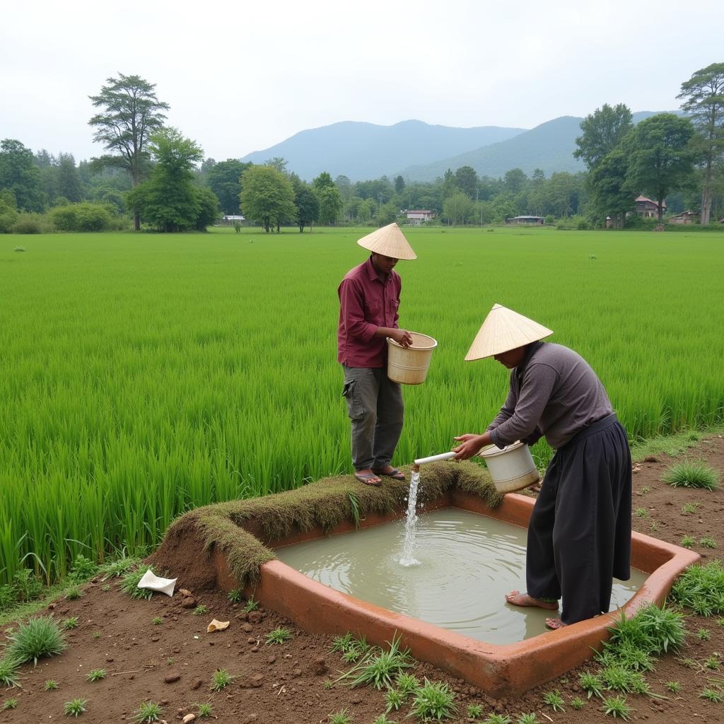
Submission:
M 689 140 L 693 133 L 688 118 L 660 113 L 641 121 L 626 138 L 630 149 L 626 183 L 631 193 L 648 193 L 657 200 L 659 222 L 666 195 L 691 179 L 695 153 Z

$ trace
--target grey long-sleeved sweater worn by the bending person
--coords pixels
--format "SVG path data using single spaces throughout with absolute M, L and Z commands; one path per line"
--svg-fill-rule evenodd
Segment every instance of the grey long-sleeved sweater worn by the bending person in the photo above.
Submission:
M 534 342 L 510 371 L 510 391 L 488 429 L 497 447 L 515 440 L 532 445 L 545 436 L 556 449 L 584 427 L 613 413 L 589 363 L 573 350 Z

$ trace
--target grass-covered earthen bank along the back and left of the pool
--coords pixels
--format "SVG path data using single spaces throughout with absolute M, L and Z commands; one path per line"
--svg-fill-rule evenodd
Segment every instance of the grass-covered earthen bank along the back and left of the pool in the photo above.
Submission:
M 281 493 L 196 508 L 169 526 L 151 561 L 189 585 L 211 586 L 215 581 L 209 560 L 218 550 L 238 587 L 253 586 L 261 565 L 276 557 L 270 542 L 313 529 L 328 533 L 340 523 L 358 523 L 372 513 L 404 510 L 411 474 L 405 472 L 408 480 L 384 477 L 380 487 L 361 484 L 351 475 L 331 476 Z M 487 469 L 473 462 L 444 462 L 422 469 L 418 503 L 437 500 L 452 489 L 479 496 L 489 508 L 502 501 Z M 180 568 L 186 569 L 186 576 Z

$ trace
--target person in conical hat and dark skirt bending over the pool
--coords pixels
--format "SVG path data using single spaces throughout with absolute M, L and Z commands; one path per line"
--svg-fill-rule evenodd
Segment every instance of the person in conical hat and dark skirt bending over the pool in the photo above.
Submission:
M 603 385 L 588 363 L 541 342 L 550 329 L 496 304 L 466 361 L 493 357 L 511 370 L 500 413 L 481 435 L 456 437 L 459 460 L 484 445 L 545 437 L 554 447 L 528 527 L 526 585 L 515 606 L 557 610 L 550 628 L 610 608 L 613 577 L 627 581 L 631 557 L 631 452 Z

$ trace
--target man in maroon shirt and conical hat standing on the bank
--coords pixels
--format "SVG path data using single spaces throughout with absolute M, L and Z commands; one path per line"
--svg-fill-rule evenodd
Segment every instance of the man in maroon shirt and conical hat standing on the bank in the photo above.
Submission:
M 345 373 L 342 395 L 352 421 L 355 477 L 366 485 L 379 485 L 383 475 L 405 479 L 405 473 L 390 465 L 405 407 L 400 384 L 387 377 L 387 337 L 405 348 L 412 344 L 411 334 L 397 327 L 402 282 L 395 264 L 417 257 L 397 224 L 357 243 L 371 255 L 351 269 L 337 289 L 337 361 Z

